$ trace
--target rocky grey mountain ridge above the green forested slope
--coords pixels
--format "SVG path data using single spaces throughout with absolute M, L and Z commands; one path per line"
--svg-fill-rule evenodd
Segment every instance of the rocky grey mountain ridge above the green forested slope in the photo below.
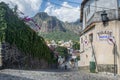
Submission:
M 63 22 L 55 16 L 49 16 L 45 12 L 39 12 L 34 17 L 32 17 L 33 20 L 41 26 L 41 32 L 52 32 L 52 31 L 78 31 L 80 27 L 80 21 L 79 19 L 76 22 L 68 23 Z M 70 27 L 70 28 L 68 28 Z M 72 28 L 74 27 L 74 28 Z M 78 32 L 77 32 L 78 33 Z

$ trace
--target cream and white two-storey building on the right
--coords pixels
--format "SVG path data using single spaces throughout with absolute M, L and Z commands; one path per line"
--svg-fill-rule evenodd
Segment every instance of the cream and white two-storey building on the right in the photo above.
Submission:
M 101 14 L 107 14 L 103 24 Z M 99 72 L 120 73 L 120 0 L 83 0 L 80 34 L 81 68 L 96 63 Z

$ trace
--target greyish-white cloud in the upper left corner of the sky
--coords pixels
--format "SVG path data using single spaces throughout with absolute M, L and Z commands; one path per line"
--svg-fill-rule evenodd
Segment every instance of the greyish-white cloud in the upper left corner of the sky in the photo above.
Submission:
M 18 5 L 18 9 L 25 13 L 25 15 L 33 16 L 40 8 L 42 0 L 0 0 L 0 2 L 6 2 L 10 4 L 10 7 Z

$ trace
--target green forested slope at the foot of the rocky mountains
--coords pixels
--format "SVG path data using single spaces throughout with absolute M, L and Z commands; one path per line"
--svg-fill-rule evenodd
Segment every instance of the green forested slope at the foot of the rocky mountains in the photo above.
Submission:
M 79 36 L 71 31 L 54 31 L 54 32 L 49 32 L 49 33 L 39 33 L 40 36 L 43 36 L 45 39 L 48 40 L 64 40 L 64 41 L 79 41 Z

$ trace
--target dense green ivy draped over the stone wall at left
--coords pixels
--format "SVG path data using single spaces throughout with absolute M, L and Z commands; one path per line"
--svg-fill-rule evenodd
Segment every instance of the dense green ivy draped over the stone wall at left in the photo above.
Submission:
M 0 3 L 0 41 L 16 45 L 25 55 L 52 61 L 51 51 L 44 39 L 3 2 Z

